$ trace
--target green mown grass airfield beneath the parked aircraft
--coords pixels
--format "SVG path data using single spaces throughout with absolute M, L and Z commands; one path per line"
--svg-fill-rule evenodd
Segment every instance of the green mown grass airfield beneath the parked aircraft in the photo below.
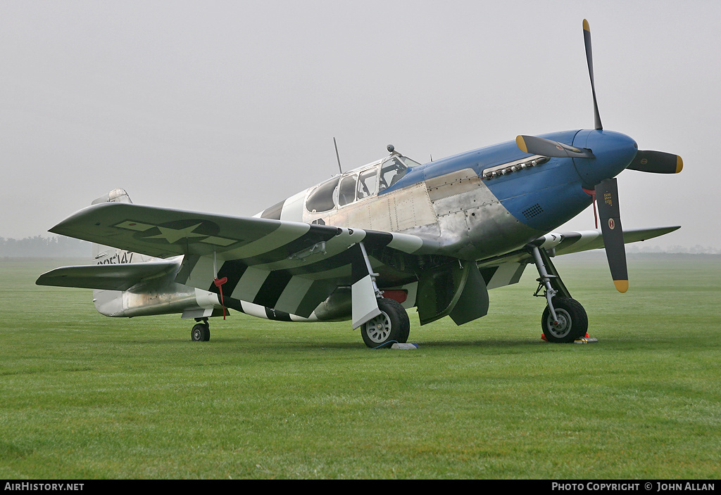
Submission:
M 84 260 L 0 259 L 0 478 L 640 478 L 721 475 L 721 257 L 555 258 L 599 342 L 540 338 L 521 283 L 490 314 L 370 350 L 348 322 L 233 312 L 112 319 L 35 286 Z

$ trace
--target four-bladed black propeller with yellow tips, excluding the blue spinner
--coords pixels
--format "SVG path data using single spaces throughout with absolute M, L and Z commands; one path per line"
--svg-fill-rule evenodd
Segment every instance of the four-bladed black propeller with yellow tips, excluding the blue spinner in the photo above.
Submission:
M 596 82 L 593 79 L 593 51 L 591 50 L 590 27 L 586 19 L 583 19 L 583 43 L 585 45 L 586 61 L 588 62 L 590 88 L 593 94 L 594 123 L 596 124 L 596 130 L 601 131 L 603 125 L 601 124 L 601 113 L 598 112 L 598 101 L 596 100 Z M 596 158 L 593 155 L 593 150 L 588 148 L 570 146 L 543 137 L 521 135 L 516 137 L 516 144 L 521 151 L 532 155 L 544 155 L 554 158 Z M 684 162 L 680 156 L 671 153 L 638 150 L 634 159 L 626 168 L 650 173 L 678 173 L 684 168 Z M 588 192 L 591 194 L 591 191 Z M 616 289 L 625 292 L 628 290 L 629 282 L 616 179 L 609 177 L 597 183 L 594 187 L 593 196 L 596 204 L 598 204 L 601 233 L 606 248 L 606 258 L 609 260 L 611 277 L 614 279 Z

